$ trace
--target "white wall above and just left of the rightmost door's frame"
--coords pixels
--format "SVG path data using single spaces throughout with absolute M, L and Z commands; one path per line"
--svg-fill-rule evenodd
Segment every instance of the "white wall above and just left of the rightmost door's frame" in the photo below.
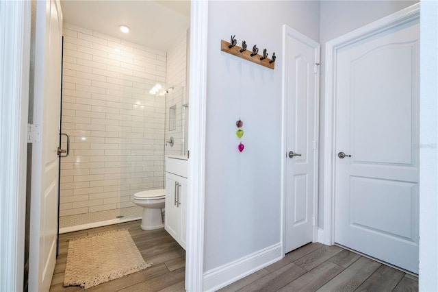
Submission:
M 320 86 L 320 171 L 319 184 L 324 182 L 324 73 L 325 43 L 354 29 L 372 23 L 389 14 L 407 8 L 418 1 L 330 1 L 322 0 L 320 7 L 321 86 Z M 319 189 L 318 227 L 324 228 L 324 192 Z

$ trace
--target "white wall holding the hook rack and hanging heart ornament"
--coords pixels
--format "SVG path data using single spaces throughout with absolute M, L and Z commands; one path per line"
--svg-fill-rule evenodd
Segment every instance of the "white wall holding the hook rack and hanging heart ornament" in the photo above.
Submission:
M 282 25 L 319 40 L 319 16 L 319 1 L 209 2 L 205 271 L 281 241 Z M 220 51 L 231 34 L 275 52 L 275 69 Z

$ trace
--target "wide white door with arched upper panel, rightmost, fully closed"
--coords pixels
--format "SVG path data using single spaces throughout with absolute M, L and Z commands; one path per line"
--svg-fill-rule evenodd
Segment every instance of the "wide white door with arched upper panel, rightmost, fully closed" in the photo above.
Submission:
M 415 19 L 339 49 L 335 79 L 335 242 L 413 273 L 419 52 Z

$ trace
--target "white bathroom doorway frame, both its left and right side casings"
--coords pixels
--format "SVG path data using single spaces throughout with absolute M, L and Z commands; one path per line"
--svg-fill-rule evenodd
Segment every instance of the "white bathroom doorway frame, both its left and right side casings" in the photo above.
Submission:
M 189 192 L 192 200 L 188 202 L 188 210 L 192 214 L 188 221 L 188 245 L 186 256 L 186 287 L 188 291 L 203 291 L 203 243 L 204 243 L 204 193 L 205 193 L 205 112 L 206 112 L 206 86 L 207 86 L 207 24 L 208 2 L 192 1 L 191 3 L 191 52 L 190 66 L 198 68 L 191 72 L 190 78 L 190 106 L 198 114 L 191 114 L 189 138 L 192 155 L 188 161 Z M 0 120 L 0 131 L 3 138 L 8 138 L 10 143 L 1 140 L 0 149 L 8 146 L 5 154 L 10 154 L 10 163 L 3 163 L 0 169 L 1 190 L 10 194 L 1 197 L 0 235 L 4 239 L 0 250 L 1 271 L 0 288 L 5 291 L 23 290 L 23 267 L 25 245 L 25 201 L 26 201 L 26 167 L 27 167 L 27 111 L 29 103 L 29 64 L 30 64 L 30 34 L 31 34 L 31 2 L 30 1 L 2 1 L 1 24 L 14 29 L 0 32 L 0 52 L 5 60 L 0 66 L 4 74 L 1 84 L 5 90 L 10 90 L 10 95 L 17 97 L 11 99 L 12 103 L 5 108 L 8 125 Z M 5 8 L 5 9 L 3 9 Z M 19 34 L 16 34 L 19 32 Z M 6 88 L 7 86 L 7 88 Z M 5 95 L 0 95 L 1 101 Z M 3 117 L 3 115 L 1 116 Z M 3 136 L 4 134 L 4 136 Z M 19 151 L 18 151 L 19 149 Z M 2 151 L 3 153 L 3 151 Z M 3 161 L 3 160 L 2 160 Z M 7 170 L 7 171 L 6 171 Z M 3 185 L 3 182 L 6 184 Z M 12 195 L 17 194 L 17 195 Z M 4 204 L 3 204 L 4 203 Z M 16 222 L 16 223 L 14 223 Z M 3 269 L 4 268 L 4 269 Z M 4 281 L 3 281 L 4 280 Z

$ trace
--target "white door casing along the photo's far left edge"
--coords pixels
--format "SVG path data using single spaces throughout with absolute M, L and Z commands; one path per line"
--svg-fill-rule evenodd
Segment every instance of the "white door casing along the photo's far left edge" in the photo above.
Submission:
M 31 1 L 1 1 L 1 291 L 23 291 L 30 25 Z

